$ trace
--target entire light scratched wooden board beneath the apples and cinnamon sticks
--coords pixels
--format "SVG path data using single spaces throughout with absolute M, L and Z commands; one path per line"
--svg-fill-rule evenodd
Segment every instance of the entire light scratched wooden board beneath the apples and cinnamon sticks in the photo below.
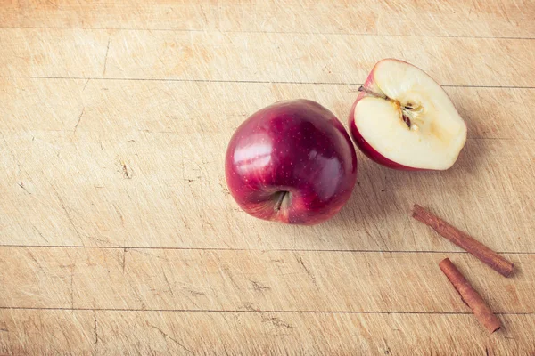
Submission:
M 534 354 L 534 19 L 531 0 L 0 1 L 0 354 Z M 243 214 L 237 125 L 300 97 L 345 124 L 385 57 L 445 86 L 469 128 L 457 165 L 358 152 L 332 221 Z M 416 202 L 517 273 L 411 220 Z

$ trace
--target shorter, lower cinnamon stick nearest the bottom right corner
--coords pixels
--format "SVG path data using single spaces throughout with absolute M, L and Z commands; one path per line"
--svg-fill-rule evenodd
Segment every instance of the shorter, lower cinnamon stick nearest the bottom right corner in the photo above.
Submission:
M 449 258 L 445 258 L 439 263 L 439 266 L 440 270 L 442 270 L 446 277 L 448 277 L 453 287 L 457 289 L 461 298 L 463 298 L 465 303 L 472 309 L 473 314 L 477 320 L 481 322 L 483 327 L 489 330 L 490 334 L 501 328 L 498 318 L 490 310 L 489 305 L 485 303 L 483 298 L 481 298 L 481 295 L 479 295 L 470 283 L 468 283 L 465 276 L 457 270 L 455 264 L 451 263 Z

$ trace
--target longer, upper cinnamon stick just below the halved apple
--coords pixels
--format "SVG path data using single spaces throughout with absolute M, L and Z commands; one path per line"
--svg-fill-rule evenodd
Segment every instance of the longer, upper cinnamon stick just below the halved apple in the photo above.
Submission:
M 440 235 L 449 241 L 456 244 L 458 247 L 464 248 L 466 251 L 476 256 L 483 263 L 487 263 L 490 268 L 505 277 L 509 277 L 513 271 L 513 263 L 507 261 L 501 255 L 492 251 L 489 247 L 481 244 L 481 242 L 473 239 L 463 231 L 458 230 L 456 227 L 446 223 L 440 217 L 437 217 L 422 206 L 415 204 L 413 207 L 413 217 L 428 226 L 431 226 L 434 231 L 440 233 Z

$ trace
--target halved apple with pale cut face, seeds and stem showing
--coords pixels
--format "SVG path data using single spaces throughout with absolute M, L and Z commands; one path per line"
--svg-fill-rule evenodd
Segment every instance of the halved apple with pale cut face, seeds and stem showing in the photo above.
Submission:
M 405 61 L 375 64 L 350 110 L 350 134 L 375 162 L 400 170 L 445 170 L 466 142 L 448 94 Z

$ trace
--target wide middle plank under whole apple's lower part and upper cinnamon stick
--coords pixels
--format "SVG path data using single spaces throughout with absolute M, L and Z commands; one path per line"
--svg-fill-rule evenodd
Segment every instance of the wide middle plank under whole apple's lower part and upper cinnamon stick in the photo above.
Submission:
M 459 250 L 410 218 L 418 202 L 498 252 L 535 251 L 531 141 L 469 140 L 446 173 L 407 174 L 359 157 L 348 205 L 331 222 L 302 229 L 238 209 L 222 169 L 228 137 L 3 134 L 11 153 L 0 172 L 0 208 L 9 212 L 0 219 L 2 244 Z M 524 214 L 488 208 L 497 202 Z

